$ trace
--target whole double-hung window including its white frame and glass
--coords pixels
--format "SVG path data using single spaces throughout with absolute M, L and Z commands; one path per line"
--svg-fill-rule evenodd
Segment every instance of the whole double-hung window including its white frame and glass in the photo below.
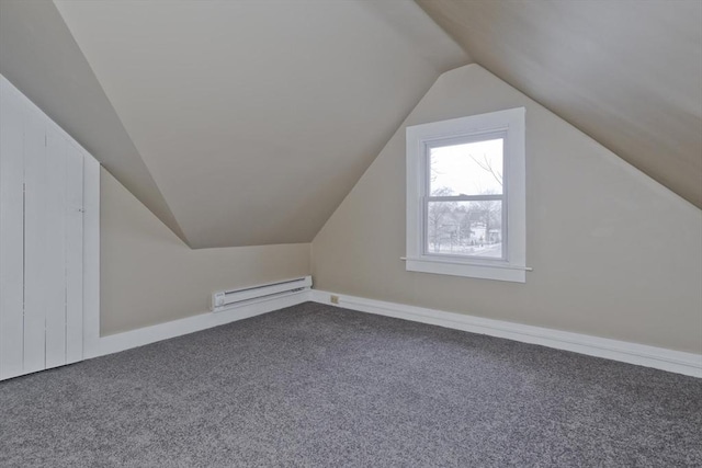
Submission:
M 524 109 L 407 127 L 408 271 L 525 282 Z

